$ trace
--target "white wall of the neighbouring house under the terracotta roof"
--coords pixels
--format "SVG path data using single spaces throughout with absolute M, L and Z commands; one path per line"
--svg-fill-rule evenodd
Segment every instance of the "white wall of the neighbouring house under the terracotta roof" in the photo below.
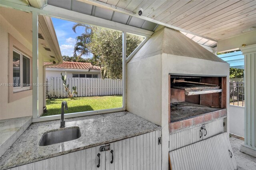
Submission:
M 56 71 L 56 70 L 47 70 L 45 71 L 46 77 L 61 77 L 60 73 L 62 75 L 65 75 L 65 71 Z M 66 71 L 67 77 L 72 77 L 72 74 L 97 74 L 98 78 L 101 78 L 100 71 Z

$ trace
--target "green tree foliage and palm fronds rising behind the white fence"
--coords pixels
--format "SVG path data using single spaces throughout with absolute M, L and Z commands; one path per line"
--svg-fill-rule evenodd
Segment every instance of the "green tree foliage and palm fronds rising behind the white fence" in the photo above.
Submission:
M 78 36 L 76 40 L 79 42 L 79 39 L 83 40 L 79 37 L 84 37 L 85 41 L 75 45 L 74 53 L 82 56 L 86 54 L 86 51 L 89 51 L 93 54 L 90 63 L 101 67 L 103 78 L 122 79 L 122 33 L 79 23 L 73 26 L 74 32 L 80 26 L 85 29 L 85 33 Z M 142 37 L 127 34 L 126 57 L 134 51 L 142 40 Z M 77 45 L 79 45 L 80 51 L 76 50 Z

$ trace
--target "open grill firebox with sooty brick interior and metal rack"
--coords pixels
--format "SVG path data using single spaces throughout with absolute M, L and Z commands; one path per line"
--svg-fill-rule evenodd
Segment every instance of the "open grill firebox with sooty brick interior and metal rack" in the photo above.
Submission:
M 226 77 L 169 76 L 170 123 L 226 110 Z

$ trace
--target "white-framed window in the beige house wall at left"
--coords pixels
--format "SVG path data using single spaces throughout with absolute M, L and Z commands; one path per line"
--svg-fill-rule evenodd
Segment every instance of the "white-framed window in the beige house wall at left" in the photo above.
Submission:
M 22 52 L 14 49 L 12 60 L 13 91 L 30 89 L 30 59 Z

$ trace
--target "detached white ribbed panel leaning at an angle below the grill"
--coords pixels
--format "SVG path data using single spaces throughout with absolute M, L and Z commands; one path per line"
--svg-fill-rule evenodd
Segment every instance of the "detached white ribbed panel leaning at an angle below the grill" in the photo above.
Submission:
M 169 155 L 172 170 L 237 169 L 227 132 L 173 150 Z

